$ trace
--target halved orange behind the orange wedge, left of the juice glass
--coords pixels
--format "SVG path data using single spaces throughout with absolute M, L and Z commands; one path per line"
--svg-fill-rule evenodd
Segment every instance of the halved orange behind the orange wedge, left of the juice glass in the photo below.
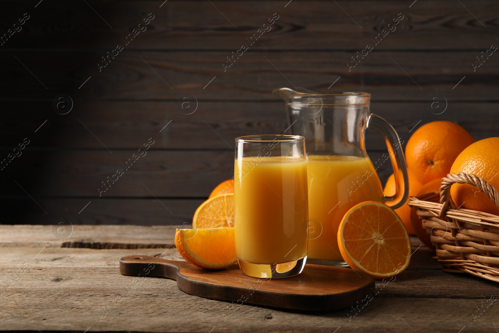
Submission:
M 212 197 L 196 209 L 193 228 L 234 227 L 234 193 Z

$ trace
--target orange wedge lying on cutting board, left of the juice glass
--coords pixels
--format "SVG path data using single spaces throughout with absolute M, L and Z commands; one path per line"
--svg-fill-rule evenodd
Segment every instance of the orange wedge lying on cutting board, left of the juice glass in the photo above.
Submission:
M 189 263 L 220 269 L 236 263 L 234 228 L 177 229 L 175 246 Z

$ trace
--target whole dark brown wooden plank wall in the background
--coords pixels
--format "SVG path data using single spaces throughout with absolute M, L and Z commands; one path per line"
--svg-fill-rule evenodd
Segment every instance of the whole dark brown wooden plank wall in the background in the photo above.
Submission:
M 438 119 L 456 121 L 476 139 L 499 133 L 499 55 L 472 65 L 499 44 L 495 0 L 0 6 L 2 34 L 29 15 L 0 45 L 0 159 L 29 140 L 0 170 L 4 224 L 188 223 L 211 189 L 231 178 L 234 137 L 287 128 L 284 105 L 270 92 L 290 82 L 371 92 L 372 111 L 404 141 Z M 147 30 L 126 45 L 121 38 L 149 13 Z M 277 15 L 250 45 L 247 38 Z M 375 45 L 372 39 L 402 15 Z M 101 57 L 117 44 L 124 49 L 99 71 Z M 249 49 L 224 71 L 226 57 L 242 44 Z M 349 70 L 366 44 L 374 49 Z M 69 113 L 53 108 L 58 94 L 72 98 Z M 149 138 L 147 155 L 99 197 L 101 182 Z M 377 159 L 385 151 L 381 137 L 368 133 L 367 140 Z M 391 169 L 379 171 L 384 182 Z

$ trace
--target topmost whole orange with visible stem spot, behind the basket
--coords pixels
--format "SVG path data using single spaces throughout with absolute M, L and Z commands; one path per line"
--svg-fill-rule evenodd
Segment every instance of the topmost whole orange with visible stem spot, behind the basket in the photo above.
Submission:
M 467 130 L 451 121 L 432 121 L 418 128 L 407 141 L 407 168 L 421 183 L 447 176 L 452 163 L 475 140 Z

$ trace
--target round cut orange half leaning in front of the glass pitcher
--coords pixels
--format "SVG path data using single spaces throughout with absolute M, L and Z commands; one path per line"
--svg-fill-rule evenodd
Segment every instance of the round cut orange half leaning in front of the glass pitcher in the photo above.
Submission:
M 393 209 L 375 201 L 352 207 L 338 229 L 341 256 L 353 269 L 375 279 L 402 273 L 411 255 L 404 224 Z

